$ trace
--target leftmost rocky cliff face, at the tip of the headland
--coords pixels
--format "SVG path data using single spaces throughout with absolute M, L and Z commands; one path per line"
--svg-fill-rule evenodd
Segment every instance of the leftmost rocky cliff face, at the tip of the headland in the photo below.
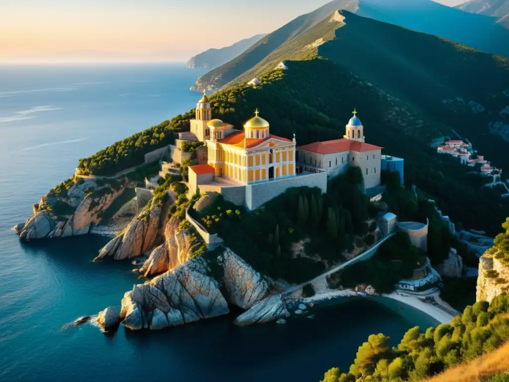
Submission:
M 99 197 L 85 197 L 85 189 L 104 190 Z M 107 189 L 106 189 L 107 188 Z M 24 225 L 16 226 L 21 239 L 30 241 L 42 238 L 67 237 L 89 233 L 91 225 L 101 222 L 101 213 L 123 192 L 124 186 L 119 189 L 109 188 L 107 185 L 98 187 L 94 180 L 87 180 L 81 184 L 73 185 L 67 192 L 66 198 L 47 194 L 38 205 L 34 206 L 34 216 Z M 58 216 L 48 206 L 64 205 L 66 208 L 76 208 L 71 215 Z

